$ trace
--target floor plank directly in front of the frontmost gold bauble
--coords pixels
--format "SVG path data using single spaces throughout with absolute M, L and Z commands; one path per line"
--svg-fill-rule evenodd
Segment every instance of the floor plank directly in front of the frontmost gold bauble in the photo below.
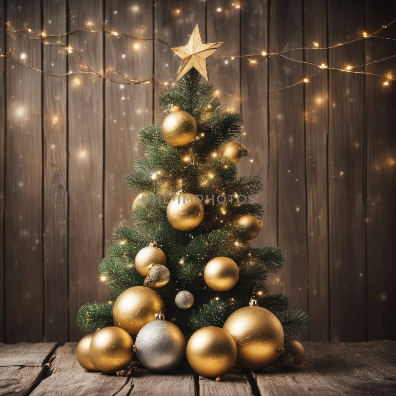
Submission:
M 252 390 L 249 379 L 247 378 L 247 373 L 238 368 L 234 368 L 229 373 L 223 375 L 219 381 L 213 381 L 213 379 L 200 375 L 199 394 L 200 396 L 250 396 Z

